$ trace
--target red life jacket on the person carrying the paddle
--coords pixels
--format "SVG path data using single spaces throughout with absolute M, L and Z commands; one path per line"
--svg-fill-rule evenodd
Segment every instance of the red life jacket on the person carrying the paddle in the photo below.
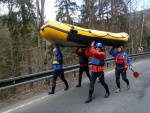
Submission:
M 115 58 L 115 63 L 118 65 L 123 65 L 125 70 L 128 69 L 128 61 L 125 57 L 125 53 L 123 53 L 121 55 L 117 54 L 116 58 Z

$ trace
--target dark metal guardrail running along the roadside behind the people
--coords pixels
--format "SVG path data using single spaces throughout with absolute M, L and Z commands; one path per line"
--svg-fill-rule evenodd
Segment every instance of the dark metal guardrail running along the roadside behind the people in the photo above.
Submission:
M 130 58 L 135 58 L 135 57 L 139 57 L 139 56 L 146 56 L 146 55 L 149 55 L 149 54 L 150 54 L 150 52 L 140 53 L 140 54 L 132 54 L 129 57 Z M 106 63 L 110 63 L 112 61 L 114 61 L 114 58 L 108 58 L 108 59 L 105 60 Z M 90 65 L 90 63 L 89 63 L 89 65 Z M 77 71 L 79 69 L 79 67 L 80 67 L 79 64 L 64 67 L 63 68 L 64 73 L 70 73 L 70 72 L 73 72 L 73 71 Z M 44 71 L 44 72 L 39 72 L 39 73 L 34 73 L 34 74 L 23 75 L 23 76 L 19 76 L 19 77 L 0 80 L 0 90 L 5 90 L 5 89 L 25 85 L 25 84 L 28 84 L 28 83 L 33 83 L 33 82 L 36 82 L 36 81 L 52 78 L 52 76 L 53 76 L 53 70 L 48 70 L 48 71 Z

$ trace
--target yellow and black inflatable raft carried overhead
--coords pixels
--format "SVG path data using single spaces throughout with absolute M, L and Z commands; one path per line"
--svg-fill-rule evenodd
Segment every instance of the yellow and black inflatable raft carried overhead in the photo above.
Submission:
M 101 42 L 107 46 L 124 45 L 129 35 L 127 33 L 111 33 L 92 29 L 84 29 L 57 21 L 43 25 L 40 34 L 51 44 L 67 47 L 90 45 L 92 41 Z

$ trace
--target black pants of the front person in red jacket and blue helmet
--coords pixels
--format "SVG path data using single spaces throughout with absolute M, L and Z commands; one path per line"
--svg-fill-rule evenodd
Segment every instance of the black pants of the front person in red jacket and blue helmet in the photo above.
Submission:
M 95 84 L 97 77 L 99 78 L 101 84 L 105 88 L 106 93 L 109 93 L 108 85 L 105 83 L 104 72 L 92 72 L 90 88 L 89 88 L 89 97 L 92 97 L 92 94 L 94 92 L 94 84 Z

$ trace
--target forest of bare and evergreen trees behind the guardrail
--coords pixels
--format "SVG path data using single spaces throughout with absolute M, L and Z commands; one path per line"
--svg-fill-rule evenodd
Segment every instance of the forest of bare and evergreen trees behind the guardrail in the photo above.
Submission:
M 52 69 L 53 45 L 39 34 L 46 0 L 0 0 L 0 79 Z M 140 8 L 139 9 L 139 5 Z M 56 20 L 83 28 L 126 32 L 128 54 L 150 51 L 150 2 L 145 0 L 55 0 Z M 3 10 L 2 10 L 3 9 Z M 51 9 L 50 9 L 51 10 Z M 105 46 L 106 56 L 111 47 Z M 64 66 L 78 63 L 76 48 L 61 47 Z

